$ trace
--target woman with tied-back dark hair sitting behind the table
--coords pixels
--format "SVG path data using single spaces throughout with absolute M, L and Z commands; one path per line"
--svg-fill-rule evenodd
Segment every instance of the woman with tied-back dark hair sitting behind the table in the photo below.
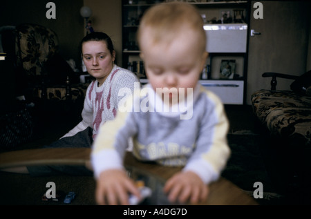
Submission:
M 114 119 L 118 104 L 124 98 L 119 95 L 120 89 L 129 88 L 133 92 L 135 82 L 139 83 L 134 73 L 114 64 L 115 50 L 106 33 L 91 32 L 82 39 L 80 46 L 86 70 L 95 77 L 86 91 L 82 121 L 59 140 L 44 148 L 91 147 L 100 125 Z M 30 175 L 93 175 L 87 166 L 21 166 L 3 171 Z

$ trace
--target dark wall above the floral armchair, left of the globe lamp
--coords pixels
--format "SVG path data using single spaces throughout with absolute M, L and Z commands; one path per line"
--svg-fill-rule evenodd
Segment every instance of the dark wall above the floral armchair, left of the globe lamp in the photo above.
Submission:
M 36 23 L 54 30 L 59 39 L 59 53 L 66 60 L 74 59 L 81 65 L 79 42 L 84 36 L 84 19 L 79 10 L 83 0 L 52 0 L 56 6 L 56 19 L 47 19 L 46 0 L 4 0 L 0 6 L 0 27 L 20 23 Z

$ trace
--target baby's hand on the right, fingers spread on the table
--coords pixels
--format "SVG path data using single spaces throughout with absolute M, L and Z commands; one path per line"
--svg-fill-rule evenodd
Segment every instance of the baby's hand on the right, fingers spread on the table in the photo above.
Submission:
M 191 204 L 205 201 L 208 195 L 208 187 L 200 177 L 192 172 L 179 172 L 173 175 L 164 186 L 164 192 L 168 193 L 169 201 Z

